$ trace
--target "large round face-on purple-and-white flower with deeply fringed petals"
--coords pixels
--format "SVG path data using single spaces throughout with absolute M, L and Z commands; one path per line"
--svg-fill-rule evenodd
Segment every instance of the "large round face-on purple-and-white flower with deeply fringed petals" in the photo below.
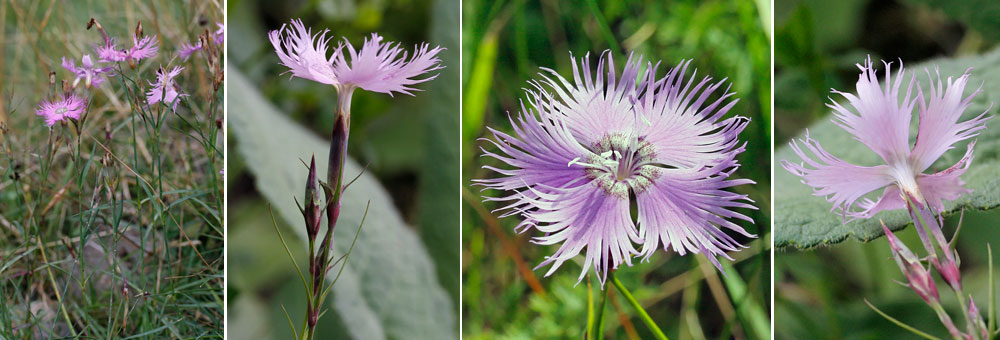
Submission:
M 645 70 L 643 69 L 646 64 Z M 501 217 L 520 215 L 515 228 L 543 233 L 532 242 L 561 244 L 539 267 L 551 275 L 585 252 L 580 280 L 593 268 L 602 284 L 608 270 L 631 265 L 660 249 L 716 256 L 742 248 L 723 229 L 755 237 L 728 220 L 752 220 L 733 208 L 756 209 L 746 195 L 726 191 L 748 179 L 729 179 L 744 150 L 737 139 L 749 120 L 722 117 L 736 104 L 724 80 L 685 80 L 690 61 L 656 78 L 659 63 L 630 57 L 621 77 L 610 53 L 591 74 L 589 55 L 573 59 L 573 79 L 544 69 L 521 111 L 509 117 L 513 133 L 489 129 L 497 152 L 485 156 L 509 168 L 476 183 L 506 192 Z M 605 75 L 606 73 L 606 75 Z M 632 197 L 638 217 L 631 216 Z M 636 250 L 635 245 L 642 249 Z

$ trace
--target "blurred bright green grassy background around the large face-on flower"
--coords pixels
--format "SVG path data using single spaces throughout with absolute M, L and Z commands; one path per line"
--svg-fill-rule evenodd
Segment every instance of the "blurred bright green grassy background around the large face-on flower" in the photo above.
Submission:
M 629 51 L 676 65 L 694 59 L 699 75 L 728 77 L 740 102 L 730 112 L 752 119 L 741 140 L 738 178 L 756 185 L 735 190 L 760 208 L 743 223 L 758 239 L 722 276 L 700 256 L 661 252 L 616 274 L 671 339 L 766 339 L 770 306 L 770 6 L 768 1 L 464 1 L 463 2 L 463 332 L 470 339 L 580 338 L 588 283 L 576 285 L 580 264 L 549 278 L 531 271 L 556 246 L 516 235 L 516 217 L 497 219 L 469 184 L 492 176 L 479 156 L 484 127 L 509 130 L 522 88 L 539 67 L 570 74 L 570 52 L 597 57 L 611 49 L 620 70 Z M 488 147 L 488 146 L 487 146 Z M 585 280 L 587 281 L 587 280 Z M 610 286 L 609 286 L 610 287 Z M 607 338 L 647 339 L 635 311 L 611 292 Z

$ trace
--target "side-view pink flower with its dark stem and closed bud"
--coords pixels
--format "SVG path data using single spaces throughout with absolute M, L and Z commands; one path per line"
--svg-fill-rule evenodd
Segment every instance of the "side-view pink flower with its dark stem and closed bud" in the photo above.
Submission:
M 309 241 L 310 280 L 306 283 L 309 297 L 306 328 L 302 330 L 301 336 L 296 332 L 298 339 L 312 339 L 315 336 L 316 323 L 322 314 L 321 307 L 326 292 L 329 291 L 329 288 L 324 289 L 324 282 L 327 272 L 333 268 L 333 230 L 340 215 L 340 199 L 346 188 L 343 173 L 350 132 L 351 96 L 359 88 L 390 96 L 394 92 L 412 95 L 412 91 L 418 91 L 412 85 L 434 79 L 436 74 L 424 75 L 443 67 L 437 57 L 442 48 L 430 48 L 429 44 L 424 43 L 408 58 L 409 54 L 398 43 L 383 43 L 382 37 L 376 33 L 372 33 L 360 49 L 355 49 L 344 39 L 331 54 L 328 45 L 330 39 L 326 38 L 328 32 L 323 30 L 314 35 L 301 20 L 292 20 L 290 26 L 285 24 L 268 33 L 278 59 L 288 67 L 288 72 L 293 77 L 332 85 L 337 91 L 337 117 L 330 143 L 327 177 L 325 183 L 319 183 L 326 202 L 320 203 L 318 196 L 315 161 L 310 162 L 309 179 L 306 183 L 306 204 L 302 213 Z M 327 229 L 322 241 L 316 243 L 324 211 Z M 360 231 L 359 227 L 358 232 Z M 347 255 L 350 255 L 350 250 Z M 346 265 L 346 261 L 345 258 L 341 266 Z

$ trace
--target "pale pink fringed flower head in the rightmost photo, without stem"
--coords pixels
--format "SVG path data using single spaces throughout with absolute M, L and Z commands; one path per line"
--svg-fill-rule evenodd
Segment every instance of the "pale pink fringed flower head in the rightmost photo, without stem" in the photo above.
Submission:
M 927 72 L 931 78 L 930 91 L 925 95 L 917 84 L 916 97 L 913 97 L 916 75 L 912 75 L 906 96 L 900 101 L 903 68 L 900 67 L 893 79 L 891 64 L 885 65 L 884 86 L 880 85 L 869 58 L 864 65 L 858 65 L 861 75 L 857 95 L 834 90 L 847 99 L 853 110 L 837 102 L 827 104 L 834 110 L 834 123 L 878 154 L 885 164 L 860 166 L 843 161 L 824 150 L 808 132 L 805 138 L 791 142 L 792 150 L 804 163 L 781 161 L 786 170 L 802 177 L 803 183 L 815 189 L 814 195 L 826 197 L 833 203 L 831 211 L 841 210 L 845 223 L 846 217 L 869 218 L 879 211 L 905 208 L 904 193 L 919 206 L 941 211 L 944 200 L 954 200 L 969 192 L 959 176 L 965 173 L 972 160 L 975 141 L 968 144 L 965 156 L 955 165 L 933 174 L 924 172 L 955 143 L 972 138 L 986 128 L 989 119 L 987 109 L 975 118 L 958 122 L 962 112 L 981 92 L 979 89 L 962 97 L 969 81 L 969 70 L 958 79 L 949 77 L 947 87 L 941 83 L 940 74 L 935 81 Z M 919 125 L 916 142 L 911 148 L 910 120 L 914 107 Z M 882 188 L 885 190 L 877 201 L 862 199 Z M 852 209 L 855 203 L 861 210 Z

